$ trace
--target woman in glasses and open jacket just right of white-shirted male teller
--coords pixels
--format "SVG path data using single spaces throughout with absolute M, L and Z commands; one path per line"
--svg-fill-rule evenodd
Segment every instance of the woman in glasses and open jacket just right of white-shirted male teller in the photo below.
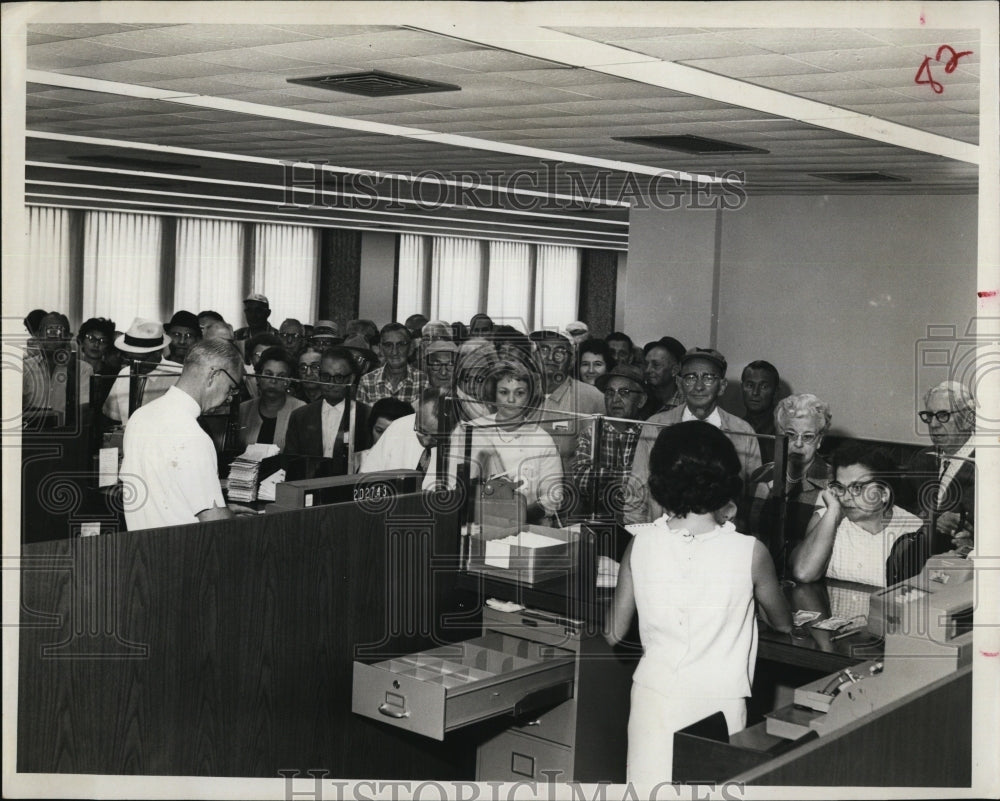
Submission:
M 274 443 L 285 447 L 288 418 L 303 401 L 290 394 L 297 365 L 284 348 L 268 348 L 257 360 L 258 397 L 240 404 L 240 444 Z

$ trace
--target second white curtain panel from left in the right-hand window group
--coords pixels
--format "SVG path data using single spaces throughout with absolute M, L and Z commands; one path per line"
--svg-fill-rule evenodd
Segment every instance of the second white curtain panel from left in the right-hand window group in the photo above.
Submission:
M 479 306 L 483 247 L 478 239 L 434 237 L 431 249 L 432 319 L 467 323 Z

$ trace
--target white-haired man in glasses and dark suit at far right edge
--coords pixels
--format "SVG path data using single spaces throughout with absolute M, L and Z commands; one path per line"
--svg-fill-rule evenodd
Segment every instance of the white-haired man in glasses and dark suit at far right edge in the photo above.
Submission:
M 918 413 L 934 447 L 918 453 L 907 466 L 910 486 L 922 516 L 935 520 L 934 550 L 968 551 L 975 531 L 976 400 L 959 381 L 942 381 L 924 395 Z

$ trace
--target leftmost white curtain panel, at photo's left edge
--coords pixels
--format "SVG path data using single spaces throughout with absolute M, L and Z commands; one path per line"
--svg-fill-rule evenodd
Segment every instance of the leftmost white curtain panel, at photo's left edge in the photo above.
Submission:
M 32 206 L 28 208 L 28 252 L 22 291 L 22 316 L 32 309 L 59 311 L 75 319 L 70 309 L 69 210 Z

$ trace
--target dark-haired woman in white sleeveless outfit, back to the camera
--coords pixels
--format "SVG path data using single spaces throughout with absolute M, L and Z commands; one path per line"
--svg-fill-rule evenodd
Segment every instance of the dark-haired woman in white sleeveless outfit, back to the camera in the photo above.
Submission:
M 767 549 L 729 522 L 740 472 L 733 444 L 702 421 L 663 429 L 650 454 L 649 489 L 668 511 L 628 527 L 634 538 L 606 635 L 621 642 L 638 613 L 643 656 L 632 677 L 626 768 L 637 788 L 672 779 L 678 729 L 718 711 L 730 733 L 746 726 L 754 600 L 775 628 L 792 629 Z

